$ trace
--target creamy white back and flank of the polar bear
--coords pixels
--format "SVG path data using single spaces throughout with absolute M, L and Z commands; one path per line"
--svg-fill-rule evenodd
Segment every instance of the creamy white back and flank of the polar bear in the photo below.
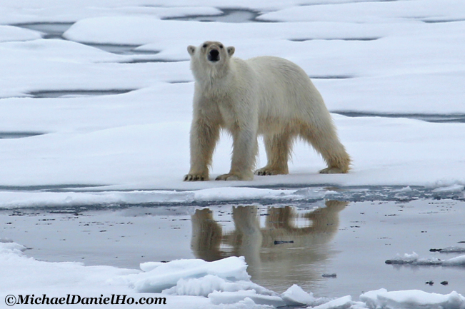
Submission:
M 321 122 L 315 115 L 331 122 L 321 94 L 299 66 L 274 56 L 259 56 L 244 62 L 256 81 L 260 133 L 281 131 L 284 126 L 289 128 L 298 123 Z

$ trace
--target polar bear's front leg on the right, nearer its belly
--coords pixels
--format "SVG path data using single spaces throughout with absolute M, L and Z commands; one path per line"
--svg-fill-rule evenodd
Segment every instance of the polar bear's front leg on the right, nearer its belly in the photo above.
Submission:
M 256 153 L 256 129 L 249 126 L 240 130 L 233 130 L 233 154 L 231 171 L 216 177 L 217 181 L 251 181 L 254 179 Z

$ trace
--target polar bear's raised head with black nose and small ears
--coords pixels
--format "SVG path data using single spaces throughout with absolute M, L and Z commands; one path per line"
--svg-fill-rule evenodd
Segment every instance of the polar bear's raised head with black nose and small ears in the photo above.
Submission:
M 191 55 L 191 70 L 196 80 L 224 76 L 229 69 L 229 59 L 235 50 L 234 46 L 225 47 L 217 41 L 206 41 L 197 47 L 187 46 L 187 51 Z

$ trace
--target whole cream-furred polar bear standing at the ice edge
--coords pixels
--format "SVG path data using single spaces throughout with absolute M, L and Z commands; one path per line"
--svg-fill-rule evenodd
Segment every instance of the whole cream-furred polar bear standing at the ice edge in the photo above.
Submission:
M 207 41 L 187 48 L 195 78 L 191 126 L 191 170 L 184 181 L 209 179 L 209 165 L 220 128 L 233 138 L 231 171 L 216 180 L 251 180 L 257 135 L 264 135 L 268 163 L 257 175 L 288 173 L 292 141 L 304 138 L 328 168 L 347 173 L 350 158 L 339 142 L 323 98 L 299 66 L 264 56 L 232 58 L 234 47 Z

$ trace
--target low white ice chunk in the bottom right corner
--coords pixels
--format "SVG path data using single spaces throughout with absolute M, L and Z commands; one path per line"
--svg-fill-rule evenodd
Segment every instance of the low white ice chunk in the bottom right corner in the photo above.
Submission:
M 360 295 L 360 300 L 365 302 L 368 308 L 465 308 L 465 298 L 456 292 L 442 295 L 422 290 L 388 292 L 381 289 Z

